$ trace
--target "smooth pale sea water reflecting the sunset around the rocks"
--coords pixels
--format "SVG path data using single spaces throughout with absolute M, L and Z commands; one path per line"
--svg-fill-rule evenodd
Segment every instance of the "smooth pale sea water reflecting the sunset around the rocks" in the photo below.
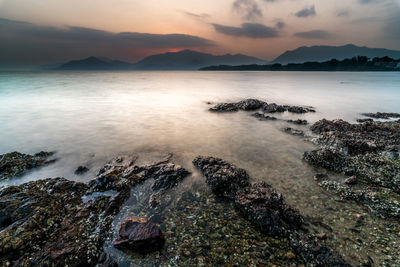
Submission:
M 3 72 L 0 154 L 55 151 L 58 161 L 0 185 L 45 177 L 88 181 L 115 156 L 170 152 L 193 172 L 181 185 L 193 191 L 204 179 L 191 161 L 197 155 L 218 156 L 272 184 L 303 214 L 330 225 L 332 231 L 318 231 L 326 231 L 351 263 L 369 256 L 390 264 L 390 257 L 400 258 L 398 225 L 366 215 L 360 232 L 351 230 L 358 214 L 367 213 L 317 186 L 315 170 L 301 160 L 311 144 L 283 133 L 286 123 L 259 121 L 246 112 L 211 113 L 207 102 L 252 97 L 317 110 L 285 118 L 355 121 L 362 112 L 400 112 L 399 88 L 398 73 Z M 76 176 L 80 165 L 90 171 Z M 384 240 L 374 237 L 379 231 Z

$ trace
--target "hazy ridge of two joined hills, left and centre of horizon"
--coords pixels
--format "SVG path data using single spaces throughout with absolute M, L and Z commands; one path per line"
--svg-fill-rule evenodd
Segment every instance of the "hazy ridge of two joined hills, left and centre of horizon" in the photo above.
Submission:
M 56 70 L 197 70 L 210 65 L 265 64 L 264 60 L 246 55 L 222 55 L 200 53 L 192 50 L 168 52 L 146 57 L 137 63 L 111 60 L 104 57 L 88 57 L 57 65 Z

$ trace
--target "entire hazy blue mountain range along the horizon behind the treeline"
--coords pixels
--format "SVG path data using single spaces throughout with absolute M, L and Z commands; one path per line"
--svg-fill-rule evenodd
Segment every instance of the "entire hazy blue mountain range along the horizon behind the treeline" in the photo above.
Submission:
M 43 66 L 41 69 L 52 70 L 198 70 L 207 66 L 216 65 L 251 65 L 268 63 L 303 63 L 324 62 L 330 59 L 343 60 L 354 56 L 367 56 L 369 58 L 388 56 L 400 58 L 400 51 L 384 48 L 360 47 L 352 44 L 344 46 L 311 46 L 299 47 L 286 51 L 272 62 L 246 56 L 242 54 L 211 55 L 192 50 L 167 52 L 146 57 L 137 63 L 112 60 L 105 57 L 88 57 L 72 60 L 63 64 Z

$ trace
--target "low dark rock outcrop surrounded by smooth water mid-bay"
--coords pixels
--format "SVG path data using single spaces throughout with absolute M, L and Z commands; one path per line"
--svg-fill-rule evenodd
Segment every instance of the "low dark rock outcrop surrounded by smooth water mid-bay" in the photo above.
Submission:
M 264 113 L 276 113 L 276 112 L 291 112 L 291 113 L 307 113 L 315 112 L 312 107 L 300 107 L 300 106 L 289 106 L 289 105 L 277 105 L 275 103 L 268 104 L 267 102 L 258 99 L 245 99 L 236 103 L 220 103 L 210 108 L 210 111 L 215 112 L 232 112 L 238 110 L 254 111 L 261 109 Z

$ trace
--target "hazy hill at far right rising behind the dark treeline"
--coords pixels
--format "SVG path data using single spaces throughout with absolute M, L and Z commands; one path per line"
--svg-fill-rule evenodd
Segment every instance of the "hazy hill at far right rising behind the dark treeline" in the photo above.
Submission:
M 303 63 L 308 61 L 323 62 L 331 59 L 342 60 L 355 56 L 374 57 L 391 57 L 400 58 L 400 51 L 389 50 L 384 48 L 368 48 L 360 47 L 352 44 L 344 46 L 302 46 L 292 51 L 286 51 L 272 63 L 288 64 Z

